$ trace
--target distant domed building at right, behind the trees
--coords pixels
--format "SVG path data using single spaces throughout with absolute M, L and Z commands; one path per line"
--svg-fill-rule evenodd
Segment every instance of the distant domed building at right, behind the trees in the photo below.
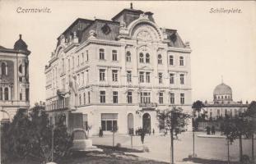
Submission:
M 232 89 L 230 86 L 221 83 L 216 86 L 213 91 L 213 102 L 205 102 L 205 111 L 207 112 L 208 120 L 216 120 L 224 117 L 226 114 L 230 116 L 238 116 L 240 112 L 245 112 L 248 103 L 233 101 Z

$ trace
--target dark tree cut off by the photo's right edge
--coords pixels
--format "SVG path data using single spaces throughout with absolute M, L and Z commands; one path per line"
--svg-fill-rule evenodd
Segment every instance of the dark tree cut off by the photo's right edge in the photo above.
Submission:
M 252 138 L 252 163 L 254 163 L 254 133 L 256 133 L 256 102 L 253 101 L 249 104 L 245 116 L 249 118 L 249 134 Z

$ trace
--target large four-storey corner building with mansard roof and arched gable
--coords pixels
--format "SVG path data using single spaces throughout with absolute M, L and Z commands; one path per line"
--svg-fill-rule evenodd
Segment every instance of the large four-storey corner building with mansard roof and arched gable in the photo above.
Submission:
M 190 52 L 177 30 L 158 27 L 150 11 L 123 9 L 112 21 L 78 18 L 45 66 L 50 121 L 63 112 L 67 125 L 77 124 L 73 112 L 90 134 L 115 125 L 120 134 L 139 127 L 157 133 L 156 110 L 192 111 Z

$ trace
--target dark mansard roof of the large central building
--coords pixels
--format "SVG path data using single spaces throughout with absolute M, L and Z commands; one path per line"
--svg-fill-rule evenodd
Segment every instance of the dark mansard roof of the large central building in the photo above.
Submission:
M 119 36 L 119 29 L 121 22 L 124 22 L 126 26 L 128 26 L 131 22 L 137 20 L 141 14 L 145 14 L 148 16 L 148 19 L 155 23 L 151 11 L 141 11 L 133 9 L 133 5 L 131 4 L 131 8 L 124 8 L 117 15 L 115 15 L 111 20 L 100 20 L 95 19 L 94 21 L 88 19 L 77 18 L 76 21 L 70 25 L 67 30 L 63 32 L 62 35 L 65 37 L 65 41 L 69 42 L 69 39 L 72 39 L 74 33 L 76 32 L 78 43 L 85 42 L 90 37 L 90 32 L 94 32 L 94 36 L 96 39 L 105 39 L 105 40 L 117 40 Z M 105 32 L 104 28 L 107 27 L 108 31 Z M 175 48 L 186 48 L 182 39 L 180 38 L 177 30 L 166 29 L 165 33 L 167 34 L 167 39 L 170 40 L 168 46 Z M 61 35 L 60 35 L 61 36 Z M 57 47 L 60 44 L 61 37 L 58 37 Z

